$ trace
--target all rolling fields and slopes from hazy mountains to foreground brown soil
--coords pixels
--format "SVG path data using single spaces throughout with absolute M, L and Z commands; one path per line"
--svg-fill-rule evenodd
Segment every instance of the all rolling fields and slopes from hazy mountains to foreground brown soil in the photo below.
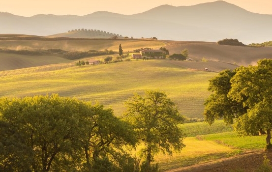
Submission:
M 142 47 L 165 47 L 170 54 L 188 49 L 193 61 L 149 59 L 117 63 L 75 66 L 59 54 L 21 55 L 0 52 L 0 97 L 24 97 L 58 93 L 60 96 L 101 103 L 121 116 L 124 102 L 137 92 L 160 89 L 176 102 L 182 115 L 203 117 L 209 80 L 224 69 L 254 65 L 261 58 L 271 58 L 272 48 L 236 47 L 214 42 L 169 41 L 151 39 L 79 39 L 30 35 L 0 35 L 0 49 L 64 51 L 113 50 L 119 44 L 126 53 Z M 84 57 L 80 60 L 103 59 Z M 116 55 L 113 55 L 115 58 Z M 202 61 L 202 58 L 207 61 Z M 208 71 L 204 71 L 208 68 Z M 262 151 L 265 136 L 239 138 L 223 121 L 214 125 L 189 123 L 181 126 L 187 135 L 186 147 L 173 157 L 158 155 L 156 162 L 163 172 L 229 172 L 242 169 L 252 172 L 263 160 L 272 158 Z M 215 134 L 217 133 L 217 134 Z

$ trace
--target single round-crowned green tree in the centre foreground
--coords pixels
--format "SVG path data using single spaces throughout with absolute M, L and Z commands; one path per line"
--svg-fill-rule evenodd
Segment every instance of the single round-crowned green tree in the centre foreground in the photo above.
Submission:
M 124 119 L 131 123 L 138 139 L 145 144 L 141 152 L 148 167 L 159 151 L 172 155 L 172 149 L 180 151 L 185 146 L 178 127 L 184 118 L 164 92 L 147 90 L 144 97 L 134 94 L 126 102 L 126 108 Z

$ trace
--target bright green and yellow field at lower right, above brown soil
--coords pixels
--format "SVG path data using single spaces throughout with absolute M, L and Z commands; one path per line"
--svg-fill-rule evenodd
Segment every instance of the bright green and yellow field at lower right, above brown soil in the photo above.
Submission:
M 188 136 L 196 135 L 196 137 L 185 138 L 186 147 L 180 153 L 174 153 L 173 156 L 157 155 L 155 160 L 160 170 L 164 172 L 246 152 L 259 151 L 266 146 L 266 136 L 239 137 L 237 133 L 231 131 L 231 126 L 224 127 L 226 124 L 223 120 L 215 121 L 214 125 L 207 126 L 209 125 L 204 122 L 183 124 L 181 126 L 183 131 L 186 129 L 184 132 Z

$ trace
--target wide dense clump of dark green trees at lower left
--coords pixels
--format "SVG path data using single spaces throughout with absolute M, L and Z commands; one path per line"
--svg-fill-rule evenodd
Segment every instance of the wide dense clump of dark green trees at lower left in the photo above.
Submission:
M 57 94 L 0 98 L 0 168 L 7 172 L 122 169 L 136 142 L 131 126 L 99 104 Z

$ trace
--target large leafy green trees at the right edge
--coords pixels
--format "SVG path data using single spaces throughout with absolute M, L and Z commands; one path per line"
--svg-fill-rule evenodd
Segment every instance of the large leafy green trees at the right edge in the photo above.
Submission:
M 235 123 L 240 135 L 267 134 L 271 145 L 272 130 L 272 59 L 262 59 L 256 66 L 225 70 L 210 80 L 212 94 L 205 102 L 205 121 L 212 124 L 223 117 Z M 235 120 L 235 121 L 234 121 Z

